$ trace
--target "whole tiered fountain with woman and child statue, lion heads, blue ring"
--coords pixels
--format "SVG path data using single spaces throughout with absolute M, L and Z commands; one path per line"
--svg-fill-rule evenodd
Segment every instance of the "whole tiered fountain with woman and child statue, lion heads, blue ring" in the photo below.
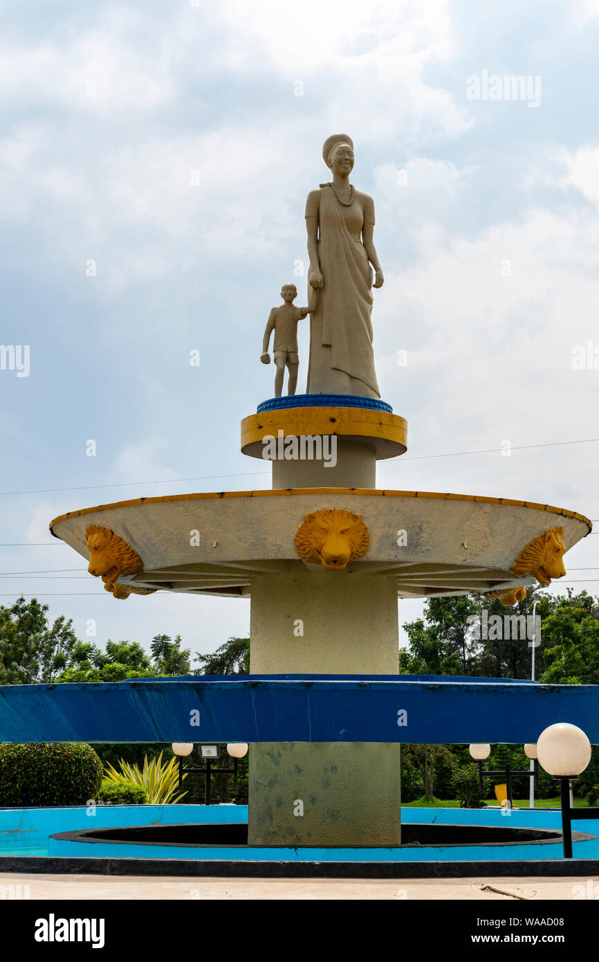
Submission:
M 333 180 L 307 201 L 309 303 L 294 307 L 284 285 L 262 344 L 266 364 L 274 333 L 277 396 L 241 422 L 241 450 L 271 462 L 272 490 L 142 497 L 50 525 L 117 599 L 251 599 L 251 674 L 5 689 L 0 724 L 7 741 L 247 741 L 249 846 L 396 848 L 402 743 L 534 743 L 557 721 L 599 741 L 591 686 L 397 675 L 398 596 L 515 604 L 562 577 L 591 525 L 531 501 L 377 489 L 377 461 L 408 438 L 374 367 L 374 204 L 349 184 L 351 139 L 327 139 L 323 157 Z

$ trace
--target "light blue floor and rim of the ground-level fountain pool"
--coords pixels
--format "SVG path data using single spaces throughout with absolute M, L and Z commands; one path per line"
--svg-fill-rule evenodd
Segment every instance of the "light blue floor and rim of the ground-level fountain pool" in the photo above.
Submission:
M 404 809 L 404 824 L 460 824 L 560 829 L 557 809 Z M 241 823 L 246 805 L 104 805 L 72 808 L 0 809 L 0 859 L 5 856 L 202 859 L 283 862 L 406 862 L 561 859 L 561 842 L 503 843 L 404 848 L 251 848 L 249 846 L 159 846 L 52 838 L 62 832 L 133 825 Z M 574 841 L 574 858 L 599 859 L 599 819 L 573 822 L 574 832 L 593 836 Z M 0 863 L 1 871 L 1 863 Z

